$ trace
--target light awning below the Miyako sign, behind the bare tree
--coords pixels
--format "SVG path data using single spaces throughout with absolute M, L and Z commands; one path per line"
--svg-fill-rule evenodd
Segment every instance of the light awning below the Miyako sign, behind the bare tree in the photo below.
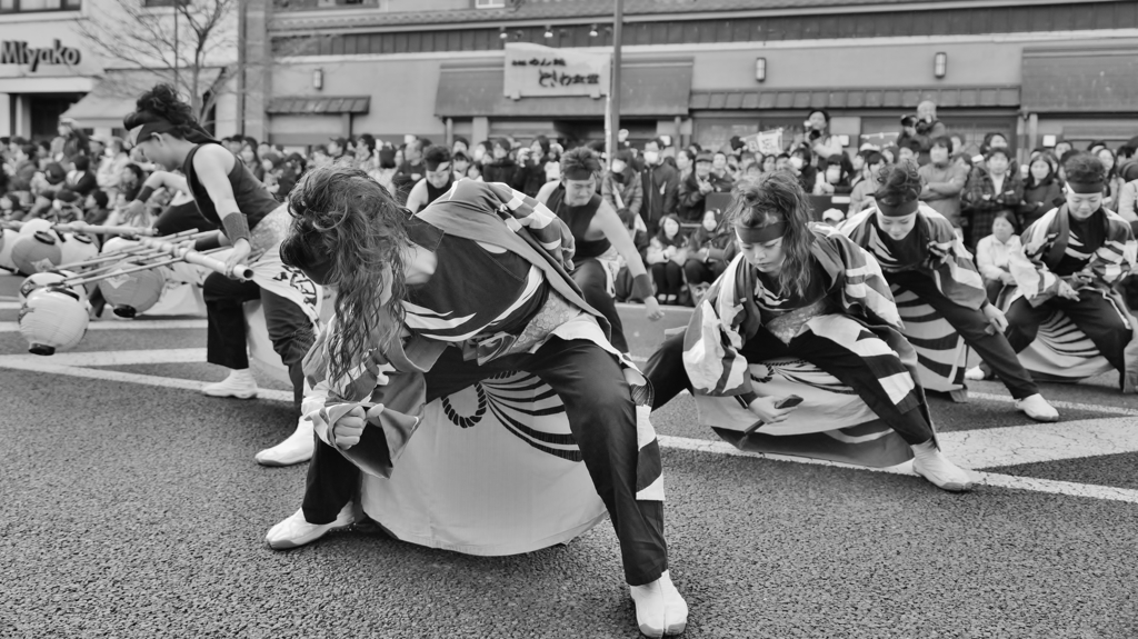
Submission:
M 201 93 L 213 89 L 221 70 L 212 67 L 199 72 L 198 88 Z M 189 73 L 182 70 L 180 75 L 184 88 Z M 107 69 L 94 89 L 72 105 L 63 117 L 73 118 L 84 128 L 122 128 L 123 116 L 134 110 L 139 94 L 159 82 L 173 84 L 173 81 L 174 72 L 171 69 Z

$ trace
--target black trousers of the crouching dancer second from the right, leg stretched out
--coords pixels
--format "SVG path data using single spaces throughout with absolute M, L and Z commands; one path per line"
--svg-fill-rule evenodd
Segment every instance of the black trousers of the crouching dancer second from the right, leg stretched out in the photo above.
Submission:
M 885 279 L 889 280 L 890 284 L 897 284 L 913 291 L 921 298 L 921 301 L 931 306 L 951 324 L 956 332 L 964 338 L 965 343 L 974 348 L 980 354 L 981 359 L 1004 382 L 1012 397 L 1023 399 L 1039 392 L 1039 387 L 1031 379 L 1031 374 L 1015 356 L 1016 350 L 1012 348 L 1003 333 L 991 331 L 991 324 L 983 313 L 948 299 L 937 289 L 937 283 L 931 277 L 920 273 L 885 273 Z M 1011 323 L 1011 318 L 1008 322 Z

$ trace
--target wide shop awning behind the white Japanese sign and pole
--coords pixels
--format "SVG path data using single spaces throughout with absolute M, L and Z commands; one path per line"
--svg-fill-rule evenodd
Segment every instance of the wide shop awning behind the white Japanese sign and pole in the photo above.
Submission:
M 438 117 L 604 117 L 604 99 L 589 97 L 505 97 L 501 66 L 444 66 L 435 98 Z M 622 117 L 674 117 L 687 115 L 692 90 L 692 63 L 626 64 L 621 67 Z

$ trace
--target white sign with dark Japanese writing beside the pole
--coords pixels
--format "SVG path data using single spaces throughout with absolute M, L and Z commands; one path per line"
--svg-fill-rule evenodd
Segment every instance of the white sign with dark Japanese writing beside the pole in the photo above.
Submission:
M 583 53 L 541 44 L 505 45 L 505 96 L 522 97 L 609 94 L 608 53 Z

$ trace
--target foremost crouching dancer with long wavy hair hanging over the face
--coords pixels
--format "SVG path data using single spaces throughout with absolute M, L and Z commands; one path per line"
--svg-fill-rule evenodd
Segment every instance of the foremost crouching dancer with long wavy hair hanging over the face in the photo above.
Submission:
M 289 204 L 283 258 L 336 288 L 336 317 L 306 359 L 328 398 L 308 413 L 320 441 L 304 504 L 269 531 L 269 545 L 292 548 L 351 524 L 361 468 L 389 476 L 426 404 L 523 371 L 564 405 L 616 528 L 641 630 L 683 631 L 659 447 L 636 418 L 634 398 L 646 403 L 651 388 L 566 273 L 566 226 L 504 184 L 473 181 L 407 217 L 364 173 L 337 167 L 306 175 Z

